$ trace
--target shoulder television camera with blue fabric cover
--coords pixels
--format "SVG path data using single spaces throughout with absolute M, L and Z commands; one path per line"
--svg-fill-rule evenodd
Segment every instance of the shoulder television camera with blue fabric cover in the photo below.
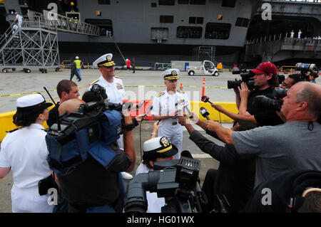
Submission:
M 93 85 L 91 92 L 96 97 L 93 102 L 81 104 L 78 112 L 61 115 L 46 134 L 49 166 L 56 173 L 81 164 L 88 154 L 108 167 L 116 156 L 108 144 L 120 137 L 122 128 L 129 127 L 123 120 L 122 105 L 105 102 L 100 85 Z

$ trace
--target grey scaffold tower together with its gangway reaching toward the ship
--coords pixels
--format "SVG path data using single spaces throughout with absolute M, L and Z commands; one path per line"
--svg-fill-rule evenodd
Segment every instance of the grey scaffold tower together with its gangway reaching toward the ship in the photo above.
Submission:
M 43 14 L 29 12 L 21 26 L 13 26 L 0 38 L 0 69 L 23 68 L 25 73 L 39 69 L 60 69 L 57 30 L 98 36 L 98 27 L 88 23 L 72 23 L 66 16 L 56 15 L 49 20 L 48 11 Z

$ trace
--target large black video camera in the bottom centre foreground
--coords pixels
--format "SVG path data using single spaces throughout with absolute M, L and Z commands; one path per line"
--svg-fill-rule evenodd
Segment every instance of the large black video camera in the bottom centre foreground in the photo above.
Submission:
M 125 212 L 146 212 L 146 191 L 157 192 L 158 197 L 165 197 L 166 205 L 161 208 L 162 213 L 201 212 L 199 171 L 200 161 L 188 157 L 155 162 L 153 171 L 138 174 L 128 184 Z

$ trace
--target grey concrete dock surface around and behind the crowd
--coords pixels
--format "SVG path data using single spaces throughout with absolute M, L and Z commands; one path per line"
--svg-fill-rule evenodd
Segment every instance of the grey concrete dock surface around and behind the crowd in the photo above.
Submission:
M 153 100 L 154 95 L 165 90 L 163 79 L 161 78 L 161 71 L 146 71 L 136 70 L 136 73 L 127 73 L 126 70 L 116 70 L 116 75 L 121 77 L 125 85 L 126 97 L 130 100 Z M 82 80 L 78 82 L 76 77 L 73 81 L 77 83 L 79 93 L 81 96 L 88 90 L 88 84 L 92 83 L 99 78 L 100 73 L 98 70 L 82 70 Z M 191 101 L 199 101 L 201 97 L 201 86 L 203 85 L 203 75 L 190 76 L 186 72 L 180 73 L 180 80 L 178 80 L 178 89 L 180 83 L 183 85 L 183 90 L 188 94 Z M 21 94 L 31 92 L 41 92 L 47 101 L 50 101 L 49 95 L 44 92 L 46 87 L 51 96 L 54 97 L 55 102 L 58 101 L 56 85 L 60 80 L 69 79 L 70 70 L 65 69 L 62 72 L 54 72 L 48 70 L 48 73 L 41 73 L 39 71 L 32 71 L 31 73 L 24 73 L 23 71 L 16 70 L 15 72 L 0 73 L 0 113 L 14 111 L 16 109 L 16 100 L 21 97 Z M 233 90 L 228 90 L 227 80 L 234 80 L 240 78 L 239 75 L 225 72 L 220 73 L 218 77 L 206 76 L 205 77 L 205 95 L 210 97 L 211 102 L 235 102 L 235 94 Z M 80 96 L 80 97 L 81 97 Z M 231 127 L 230 123 L 222 123 L 223 127 Z M 136 168 L 141 163 L 141 152 L 143 149 L 143 142 L 149 139 L 153 127 L 153 122 L 145 121 L 140 126 L 133 130 L 133 139 L 136 151 Z M 208 136 L 199 127 L 205 137 L 212 139 L 218 144 L 223 144 L 217 139 Z M 201 186 L 208 169 L 217 169 L 219 162 L 210 158 L 208 154 L 204 154 L 200 149 L 188 139 L 188 132 L 183 131 L 183 150 L 190 151 L 195 159 L 201 162 L 200 167 L 200 181 Z M 135 169 L 136 171 L 136 169 Z M 131 174 L 135 174 L 135 171 Z M 12 174 L 7 175 L 4 179 L 0 180 L 0 213 L 11 212 L 11 186 Z M 126 182 L 128 184 L 128 181 Z

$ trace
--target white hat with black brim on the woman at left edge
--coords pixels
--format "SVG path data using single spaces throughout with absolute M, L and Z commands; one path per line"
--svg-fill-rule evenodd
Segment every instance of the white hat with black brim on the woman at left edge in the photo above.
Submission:
M 32 94 L 19 97 L 16 100 L 16 110 L 26 112 L 37 112 L 50 107 L 52 103 L 46 102 L 41 94 Z

